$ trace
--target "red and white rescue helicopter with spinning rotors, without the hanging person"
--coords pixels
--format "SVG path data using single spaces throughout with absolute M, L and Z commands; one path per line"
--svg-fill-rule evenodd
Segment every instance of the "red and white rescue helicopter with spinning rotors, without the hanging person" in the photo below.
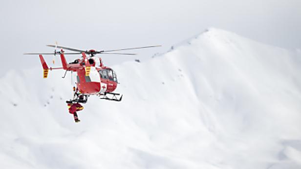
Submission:
M 132 53 L 111 53 L 115 51 L 125 51 L 132 49 L 142 49 L 142 48 L 152 48 L 157 46 L 144 46 L 136 48 L 127 49 L 117 49 L 117 50 L 102 50 L 97 51 L 91 50 L 79 50 L 64 46 L 47 45 L 49 47 L 54 47 L 53 53 L 25 53 L 24 55 L 39 55 L 43 66 L 43 77 L 47 78 L 49 70 L 64 69 L 66 70 L 64 77 L 68 71 L 77 73 L 77 88 L 73 87 L 73 98 L 67 100 L 67 103 L 86 103 L 90 95 L 97 95 L 101 99 L 121 101 L 122 95 L 113 93 L 116 89 L 118 81 L 116 73 L 109 67 L 104 66 L 102 59 L 96 57 L 97 54 L 115 54 L 115 55 L 136 55 Z M 60 48 L 60 51 L 57 51 Z M 73 51 L 73 53 L 65 53 L 64 50 Z M 67 63 L 65 55 L 82 55 L 82 58 L 76 59 L 73 62 Z M 63 67 L 59 68 L 49 68 L 46 64 L 43 55 L 60 55 Z M 54 62 L 54 60 L 53 60 Z M 118 98 L 119 97 L 119 98 Z

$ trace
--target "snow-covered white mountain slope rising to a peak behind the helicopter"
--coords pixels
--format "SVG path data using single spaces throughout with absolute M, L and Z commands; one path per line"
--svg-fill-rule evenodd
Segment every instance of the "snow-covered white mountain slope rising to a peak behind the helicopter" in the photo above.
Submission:
M 300 50 L 212 28 L 112 68 L 122 102 L 91 96 L 78 124 L 70 74 L 1 78 L 0 168 L 301 168 Z

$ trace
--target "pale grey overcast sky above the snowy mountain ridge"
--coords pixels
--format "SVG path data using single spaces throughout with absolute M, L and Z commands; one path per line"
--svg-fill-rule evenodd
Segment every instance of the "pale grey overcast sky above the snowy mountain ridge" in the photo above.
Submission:
M 5 71 L 39 65 L 38 56 L 22 54 L 52 52 L 45 45 L 55 41 L 97 50 L 163 45 L 129 51 L 138 56 L 102 56 L 110 66 L 165 52 L 208 27 L 301 48 L 301 0 L 6 0 L 0 14 L 0 69 Z

